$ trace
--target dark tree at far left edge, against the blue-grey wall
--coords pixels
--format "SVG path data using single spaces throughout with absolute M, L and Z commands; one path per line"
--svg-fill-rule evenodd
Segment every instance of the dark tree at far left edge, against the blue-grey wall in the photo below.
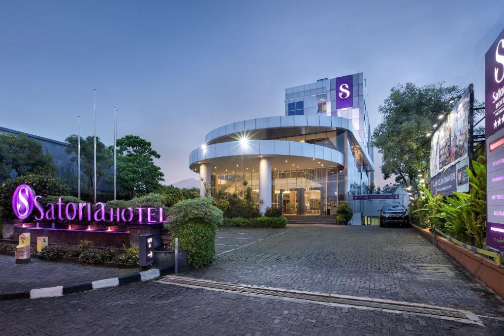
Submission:
M 27 173 L 55 175 L 52 157 L 43 153 L 42 145 L 24 134 L 0 135 L 0 180 L 9 177 L 12 170 L 17 175 Z

